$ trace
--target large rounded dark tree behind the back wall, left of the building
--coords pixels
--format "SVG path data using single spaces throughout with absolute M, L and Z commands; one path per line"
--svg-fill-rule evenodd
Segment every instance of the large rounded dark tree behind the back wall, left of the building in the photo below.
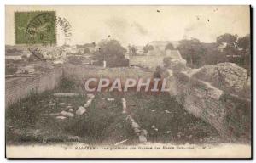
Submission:
M 99 42 L 99 51 L 96 52 L 95 58 L 99 64 L 107 62 L 107 67 L 128 66 L 129 60 L 125 59 L 126 49 L 121 46 L 117 40 L 102 40 Z

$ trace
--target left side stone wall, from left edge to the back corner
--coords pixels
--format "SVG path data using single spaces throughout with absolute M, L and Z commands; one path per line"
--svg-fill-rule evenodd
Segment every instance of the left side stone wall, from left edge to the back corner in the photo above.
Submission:
M 43 93 L 55 88 L 61 80 L 62 68 L 32 77 L 15 77 L 5 80 L 5 107 L 14 104 L 31 93 Z

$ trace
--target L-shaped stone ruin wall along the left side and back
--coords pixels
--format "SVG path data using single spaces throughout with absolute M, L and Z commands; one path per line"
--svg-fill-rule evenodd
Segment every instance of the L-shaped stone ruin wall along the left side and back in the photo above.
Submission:
M 6 78 L 5 80 L 5 107 L 28 97 L 31 93 L 43 93 L 54 89 L 61 81 L 61 76 L 83 85 L 84 80 L 90 77 L 105 77 L 114 80 L 119 77 L 121 82 L 126 78 L 152 77 L 152 71 L 144 71 L 139 68 L 107 68 L 86 65 L 65 64 L 42 75 L 31 77 Z

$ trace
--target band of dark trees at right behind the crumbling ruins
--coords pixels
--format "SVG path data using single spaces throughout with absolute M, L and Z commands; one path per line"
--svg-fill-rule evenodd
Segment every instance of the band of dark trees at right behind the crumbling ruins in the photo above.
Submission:
M 250 36 L 238 37 L 225 33 L 217 37 L 216 42 L 200 42 L 196 38 L 181 40 L 177 49 L 187 65 L 198 68 L 203 65 L 216 65 L 222 62 L 232 62 L 247 69 L 251 74 L 251 42 Z

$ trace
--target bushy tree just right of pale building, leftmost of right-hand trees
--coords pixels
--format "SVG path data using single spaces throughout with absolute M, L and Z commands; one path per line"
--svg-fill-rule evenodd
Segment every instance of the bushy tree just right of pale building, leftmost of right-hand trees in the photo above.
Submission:
M 201 60 L 206 49 L 203 48 L 198 39 L 192 38 L 191 40 L 182 40 L 179 42 L 177 49 L 181 53 L 183 59 L 187 60 L 190 67 L 198 68 L 204 64 Z

